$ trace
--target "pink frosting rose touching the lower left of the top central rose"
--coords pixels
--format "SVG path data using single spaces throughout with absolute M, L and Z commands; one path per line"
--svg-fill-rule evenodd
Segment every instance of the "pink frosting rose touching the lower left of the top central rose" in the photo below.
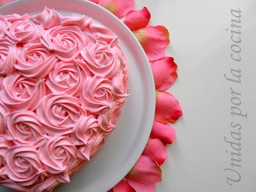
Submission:
M 26 44 L 20 49 L 15 68 L 25 77 L 44 78 L 49 74 L 58 58 L 42 44 Z

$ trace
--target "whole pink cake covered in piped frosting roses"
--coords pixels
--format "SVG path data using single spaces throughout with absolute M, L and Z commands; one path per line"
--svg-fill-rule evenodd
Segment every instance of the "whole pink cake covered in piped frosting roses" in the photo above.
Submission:
M 0 185 L 69 182 L 115 128 L 127 78 L 118 37 L 86 16 L 0 15 Z

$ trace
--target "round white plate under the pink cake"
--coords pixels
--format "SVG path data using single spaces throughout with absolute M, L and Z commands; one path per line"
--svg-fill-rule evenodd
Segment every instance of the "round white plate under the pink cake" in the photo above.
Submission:
M 129 61 L 129 93 L 117 124 L 90 162 L 56 191 L 107 191 L 131 170 L 147 143 L 155 112 L 155 88 L 150 64 L 138 40 L 122 21 L 97 4 L 82 0 L 20 0 L 0 8 L 0 14 L 39 13 L 44 6 L 62 15 L 88 15 L 112 29 Z M 0 191 L 12 191 L 1 188 Z

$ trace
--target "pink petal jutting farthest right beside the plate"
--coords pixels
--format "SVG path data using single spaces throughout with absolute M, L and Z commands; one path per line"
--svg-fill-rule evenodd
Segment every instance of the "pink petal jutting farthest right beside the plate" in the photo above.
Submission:
M 170 93 L 156 91 L 155 120 L 167 124 L 176 122 L 182 116 L 179 101 Z

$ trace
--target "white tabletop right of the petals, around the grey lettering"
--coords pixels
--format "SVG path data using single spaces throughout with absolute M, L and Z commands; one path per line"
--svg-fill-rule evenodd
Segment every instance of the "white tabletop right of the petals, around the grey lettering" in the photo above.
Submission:
M 177 141 L 168 147 L 163 182 L 156 191 L 256 191 L 256 1 L 255 0 L 136 0 L 152 13 L 152 25 L 163 24 L 171 34 L 166 54 L 178 64 L 179 79 L 170 89 L 183 108 Z M 241 9 L 242 61 L 230 60 L 230 8 Z M 241 68 L 242 83 L 230 83 L 224 74 Z M 241 92 L 241 109 L 248 119 L 230 115 L 230 86 Z M 230 122 L 241 129 L 241 182 L 229 186 Z

